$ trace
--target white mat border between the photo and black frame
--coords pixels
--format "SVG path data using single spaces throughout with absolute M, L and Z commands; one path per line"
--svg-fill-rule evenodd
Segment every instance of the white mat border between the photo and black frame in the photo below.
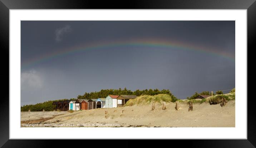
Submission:
M 235 20 L 236 127 L 20 128 L 20 20 Z M 247 10 L 10 10 L 10 139 L 247 139 Z M 86 130 L 83 134 L 81 131 Z M 77 134 L 69 137 L 71 131 Z M 100 133 L 102 134 L 98 134 Z M 58 133 L 58 134 L 56 134 Z M 104 134 L 107 133 L 107 134 Z M 192 134 L 188 134 L 192 133 Z

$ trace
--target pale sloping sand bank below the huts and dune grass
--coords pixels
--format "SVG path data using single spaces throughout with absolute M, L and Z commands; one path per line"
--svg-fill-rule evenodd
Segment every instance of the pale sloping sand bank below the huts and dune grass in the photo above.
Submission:
M 193 104 L 188 111 L 187 103 L 161 104 L 151 111 L 151 105 L 134 105 L 110 109 L 75 111 L 41 122 L 46 127 L 235 127 L 235 100 L 226 106 L 209 103 Z M 106 113 L 106 114 L 105 114 Z

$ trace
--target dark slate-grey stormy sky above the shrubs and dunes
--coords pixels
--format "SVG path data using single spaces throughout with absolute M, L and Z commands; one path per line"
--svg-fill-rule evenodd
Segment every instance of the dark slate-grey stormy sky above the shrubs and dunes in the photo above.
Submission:
M 235 87 L 234 60 L 175 47 L 103 46 L 38 60 L 80 45 L 149 38 L 235 57 L 235 21 L 22 21 L 21 105 L 124 87 L 169 89 L 180 99 Z

